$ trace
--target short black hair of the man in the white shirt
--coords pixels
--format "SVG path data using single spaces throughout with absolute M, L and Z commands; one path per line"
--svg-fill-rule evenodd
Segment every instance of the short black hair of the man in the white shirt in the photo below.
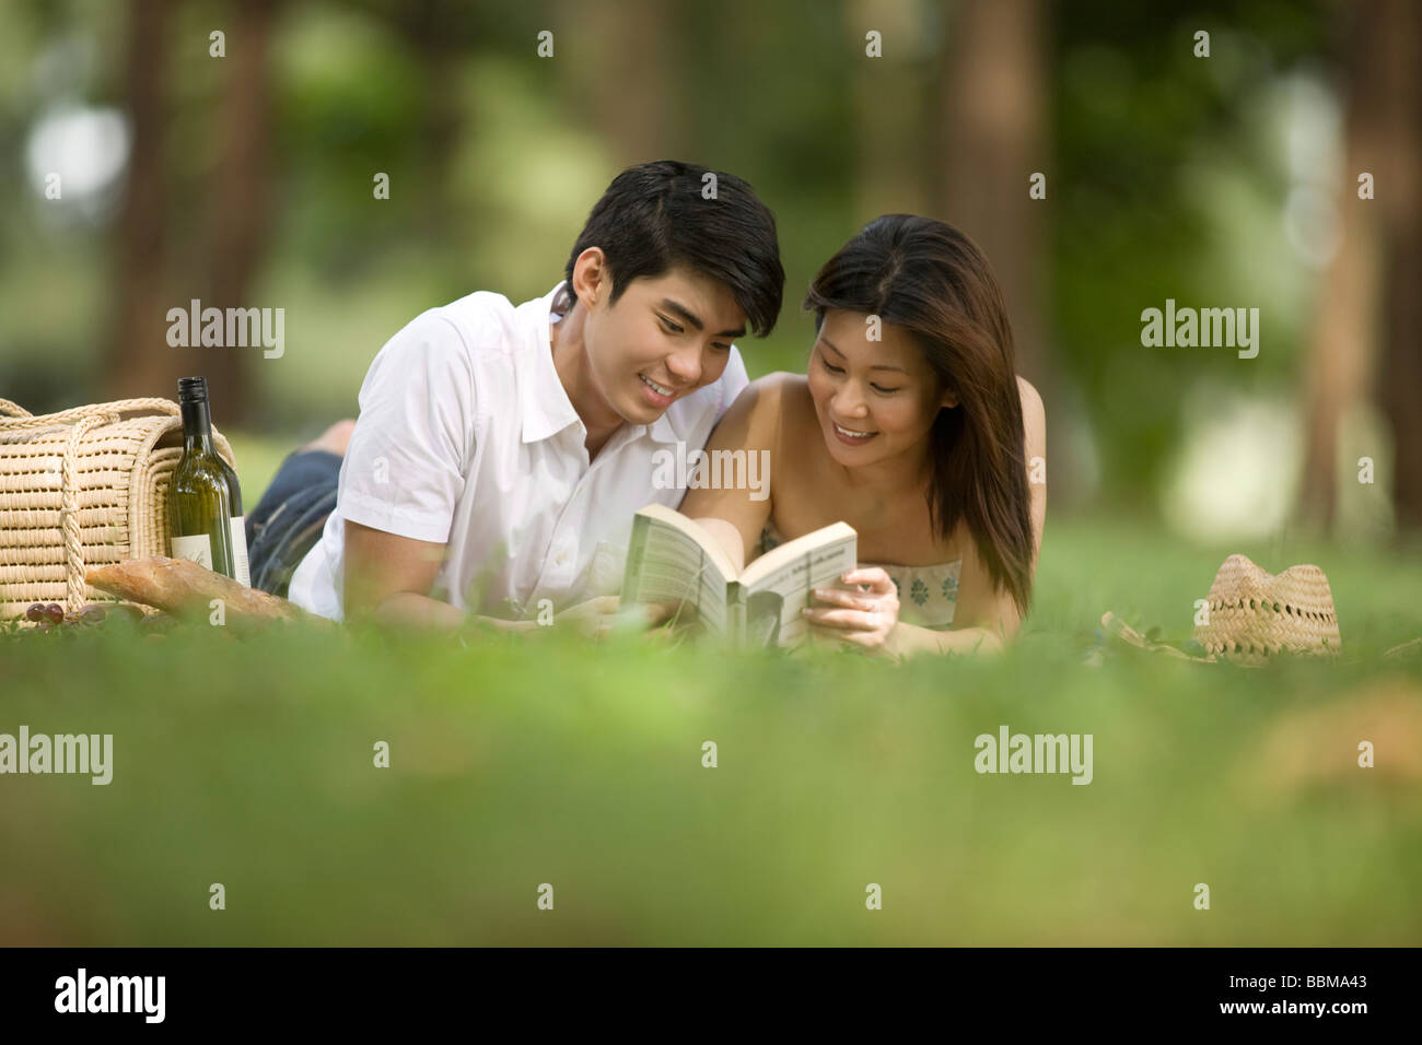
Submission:
M 715 196 L 710 195 L 715 175 Z M 613 179 L 593 206 L 567 259 L 602 247 L 613 282 L 611 303 L 633 280 L 656 279 L 675 266 L 724 283 L 757 337 L 781 314 L 785 269 L 775 237 L 775 215 L 735 175 L 695 164 L 658 159 L 630 166 Z

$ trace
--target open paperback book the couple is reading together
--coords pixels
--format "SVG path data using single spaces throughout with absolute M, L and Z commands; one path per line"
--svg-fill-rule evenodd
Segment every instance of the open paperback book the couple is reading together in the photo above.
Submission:
M 795 645 L 816 587 L 838 587 L 859 564 L 857 535 L 833 523 L 737 570 L 715 536 L 663 505 L 633 516 L 623 606 L 684 603 L 707 631 L 748 645 Z

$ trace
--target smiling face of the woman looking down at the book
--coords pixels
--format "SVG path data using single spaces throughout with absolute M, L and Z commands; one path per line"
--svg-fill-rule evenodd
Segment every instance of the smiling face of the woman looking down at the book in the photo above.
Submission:
M 957 405 L 951 391 L 940 391 L 913 336 L 870 318 L 826 311 L 809 360 L 825 446 L 845 468 L 921 452 L 939 409 Z

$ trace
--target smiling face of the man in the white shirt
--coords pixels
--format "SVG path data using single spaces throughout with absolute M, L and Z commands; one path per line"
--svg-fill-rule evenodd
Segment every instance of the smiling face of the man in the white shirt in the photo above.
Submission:
M 616 304 L 587 314 L 583 338 L 593 385 L 624 421 L 646 425 L 697 388 L 720 380 L 745 313 L 710 276 L 674 267 L 633 280 Z

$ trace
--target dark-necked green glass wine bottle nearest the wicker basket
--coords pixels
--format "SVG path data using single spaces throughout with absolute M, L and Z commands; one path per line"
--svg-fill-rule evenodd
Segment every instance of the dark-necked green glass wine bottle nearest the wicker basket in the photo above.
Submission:
M 192 559 L 233 580 L 232 496 L 222 458 L 212 444 L 208 380 L 178 378 L 182 409 L 182 458 L 168 483 L 168 527 L 173 559 Z

